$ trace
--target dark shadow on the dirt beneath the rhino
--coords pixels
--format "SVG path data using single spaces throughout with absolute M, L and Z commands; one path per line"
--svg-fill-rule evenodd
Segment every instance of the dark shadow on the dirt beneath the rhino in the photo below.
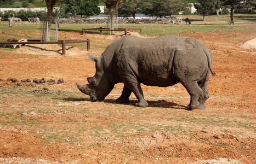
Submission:
M 62 99 L 64 101 L 90 101 L 90 98 L 73 98 L 73 97 L 67 97 L 67 98 L 53 98 L 53 99 Z M 100 101 L 103 103 L 107 104 L 123 104 L 126 106 L 134 106 L 135 103 L 138 103 L 136 100 L 130 100 L 129 103 L 118 103 L 116 102 L 116 99 L 104 99 L 103 101 Z M 187 110 L 187 106 L 183 106 L 181 104 L 173 103 L 173 102 L 168 102 L 164 99 L 162 100 L 157 100 L 157 101 L 147 101 L 149 102 L 149 106 L 147 107 L 160 107 L 160 108 L 172 108 L 172 109 L 185 109 Z M 94 102 L 97 103 L 97 102 Z

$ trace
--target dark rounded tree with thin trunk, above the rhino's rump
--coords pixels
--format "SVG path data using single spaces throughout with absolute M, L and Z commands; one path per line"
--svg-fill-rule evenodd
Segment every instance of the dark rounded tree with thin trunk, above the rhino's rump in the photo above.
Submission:
M 198 13 L 203 14 L 203 21 L 206 21 L 205 15 L 215 12 L 217 1 L 215 0 L 198 0 L 199 3 L 195 3 L 194 7 Z

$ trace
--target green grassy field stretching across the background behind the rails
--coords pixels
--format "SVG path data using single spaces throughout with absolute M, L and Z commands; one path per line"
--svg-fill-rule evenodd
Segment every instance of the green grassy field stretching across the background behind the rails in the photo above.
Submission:
M 180 16 L 180 15 L 172 15 Z M 229 25 L 230 15 L 224 14 L 220 16 L 206 15 L 206 21 L 202 21 L 201 15 L 181 15 L 183 20 L 189 17 L 192 26 L 186 26 L 185 24 L 181 27 L 175 24 L 166 25 L 155 25 L 155 24 L 121 24 L 118 28 L 142 28 L 143 34 L 148 36 L 164 36 L 166 34 L 180 34 L 182 32 L 230 32 L 230 31 L 250 31 L 244 30 L 244 24 L 255 24 L 256 25 L 256 14 L 234 14 L 235 25 Z M 73 31 L 81 32 L 82 28 L 95 28 L 105 27 L 105 24 L 61 24 L 59 31 Z M 14 34 L 13 31 L 33 31 L 41 30 L 40 25 L 28 25 L 28 24 L 16 24 L 12 28 L 8 27 L 8 22 L 3 21 L 0 24 L 1 30 L 8 34 Z M 19 33 L 15 33 L 14 36 L 19 37 Z M 39 38 L 39 36 L 29 35 L 28 38 Z M 0 40 L 7 38 L 1 37 Z

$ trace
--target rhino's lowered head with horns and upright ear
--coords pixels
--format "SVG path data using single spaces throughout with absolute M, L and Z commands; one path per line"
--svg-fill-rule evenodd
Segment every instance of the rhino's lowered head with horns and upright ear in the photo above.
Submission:
M 89 95 L 92 101 L 101 101 L 109 95 L 115 84 L 110 83 L 106 72 L 104 72 L 102 56 L 96 57 L 88 53 L 88 58 L 95 61 L 96 73 L 93 77 L 87 78 L 89 84 L 76 83 L 76 85 L 81 92 Z

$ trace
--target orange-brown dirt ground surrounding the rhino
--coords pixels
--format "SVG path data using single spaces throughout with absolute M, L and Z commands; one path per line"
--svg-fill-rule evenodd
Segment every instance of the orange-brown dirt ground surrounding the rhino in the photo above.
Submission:
M 59 35 L 60 38 L 65 36 L 69 39 L 89 38 L 96 47 L 107 46 L 120 34 L 82 36 L 81 33 L 60 32 Z M 100 126 L 105 130 L 109 130 L 110 121 L 111 126 L 121 127 L 121 124 L 137 125 L 137 120 L 141 125 L 171 124 L 179 127 L 177 131 L 164 131 L 160 128 L 130 132 L 132 135 L 127 137 L 117 137 L 111 132 L 112 135 L 108 136 L 81 132 L 83 140 L 77 143 L 65 138 L 64 142 L 48 144 L 38 137 L 42 131 L 38 132 L 36 127 L 35 130 L 27 130 L 19 124 L 4 126 L 2 123 L 8 121 L 8 118 L 1 116 L 0 163 L 256 163 L 256 49 L 251 46 L 249 49 L 242 47 L 248 40 L 256 38 L 256 33 L 192 32 L 181 33 L 180 36 L 195 37 L 213 55 L 212 68 L 217 76 L 209 80 L 210 98 L 206 102 L 206 110 L 185 110 L 189 95 L 180 84 L 166 88 L 143 85 L 144 95 L 150 105 L 142 109 L 133 106 L 136 101 L 134 95 L 132 103 L 128 105 L 115 103 L 114 99 L 121 94 L 122 84 L 117 84 L 106 101 L 102 102 L 90 102 L 86 95 L 82 95 L 82 99 L 77 98 L 77 101 L 45 102 L 35 101 L 31 97 L 15 98 L 10 96 L 11 93 L 1 94 L 4 98 L 0 100 L 0 114 L 16 107 L 24 109 L 37 106 L 56 110 L 58 107 L 54 106 L 58 104 L 65 104 L 74 110 L 76 107 L 87 107 L 89 112 L 99 110 L 98 114 L 64 113 L 59 110 L 45 114 L 30 111 L 22 113 L 28 120 L 49 122 L 53 128 L 61 127 L 61 122 L 66 119 L 80 122 L 88 128 Z M 99 56 L 104 51 L 93 46 L 90 51 L 93 55 Z M 7 78 L 64 79 L 64 84 L 51 87 L 55 90 L 75 89 L 76 82 L 86 84 L 86 78 L 95 73 L 94 63 L 86 57 L 86 48 L 78 50 L 69 47 L 66 56 L 61 56 L 60 49 L 57 45 L 29 45 L 14 51 L 0 49 L 1 90 L 17 84 L 7 81 Z M 8 55 L 10 53 L 12 55 Z M 31 84 L 27 87 L 28 90 L 32 88 Z M 174 97 L 169 98 L 168 95 Z M 101 113 L 103 110 L 112 110 L 115 115 Z M 175 118 L 181 121 L 173 121 Z M 187 122 L 201 118 L 205 118 L 207 123 Z M 87 124 L 83 120 L 88 120 Z M 132 130 L 127 128 L 126 131 L 128 133 Z M 55 132 L 58 133 L 58 130 Z

